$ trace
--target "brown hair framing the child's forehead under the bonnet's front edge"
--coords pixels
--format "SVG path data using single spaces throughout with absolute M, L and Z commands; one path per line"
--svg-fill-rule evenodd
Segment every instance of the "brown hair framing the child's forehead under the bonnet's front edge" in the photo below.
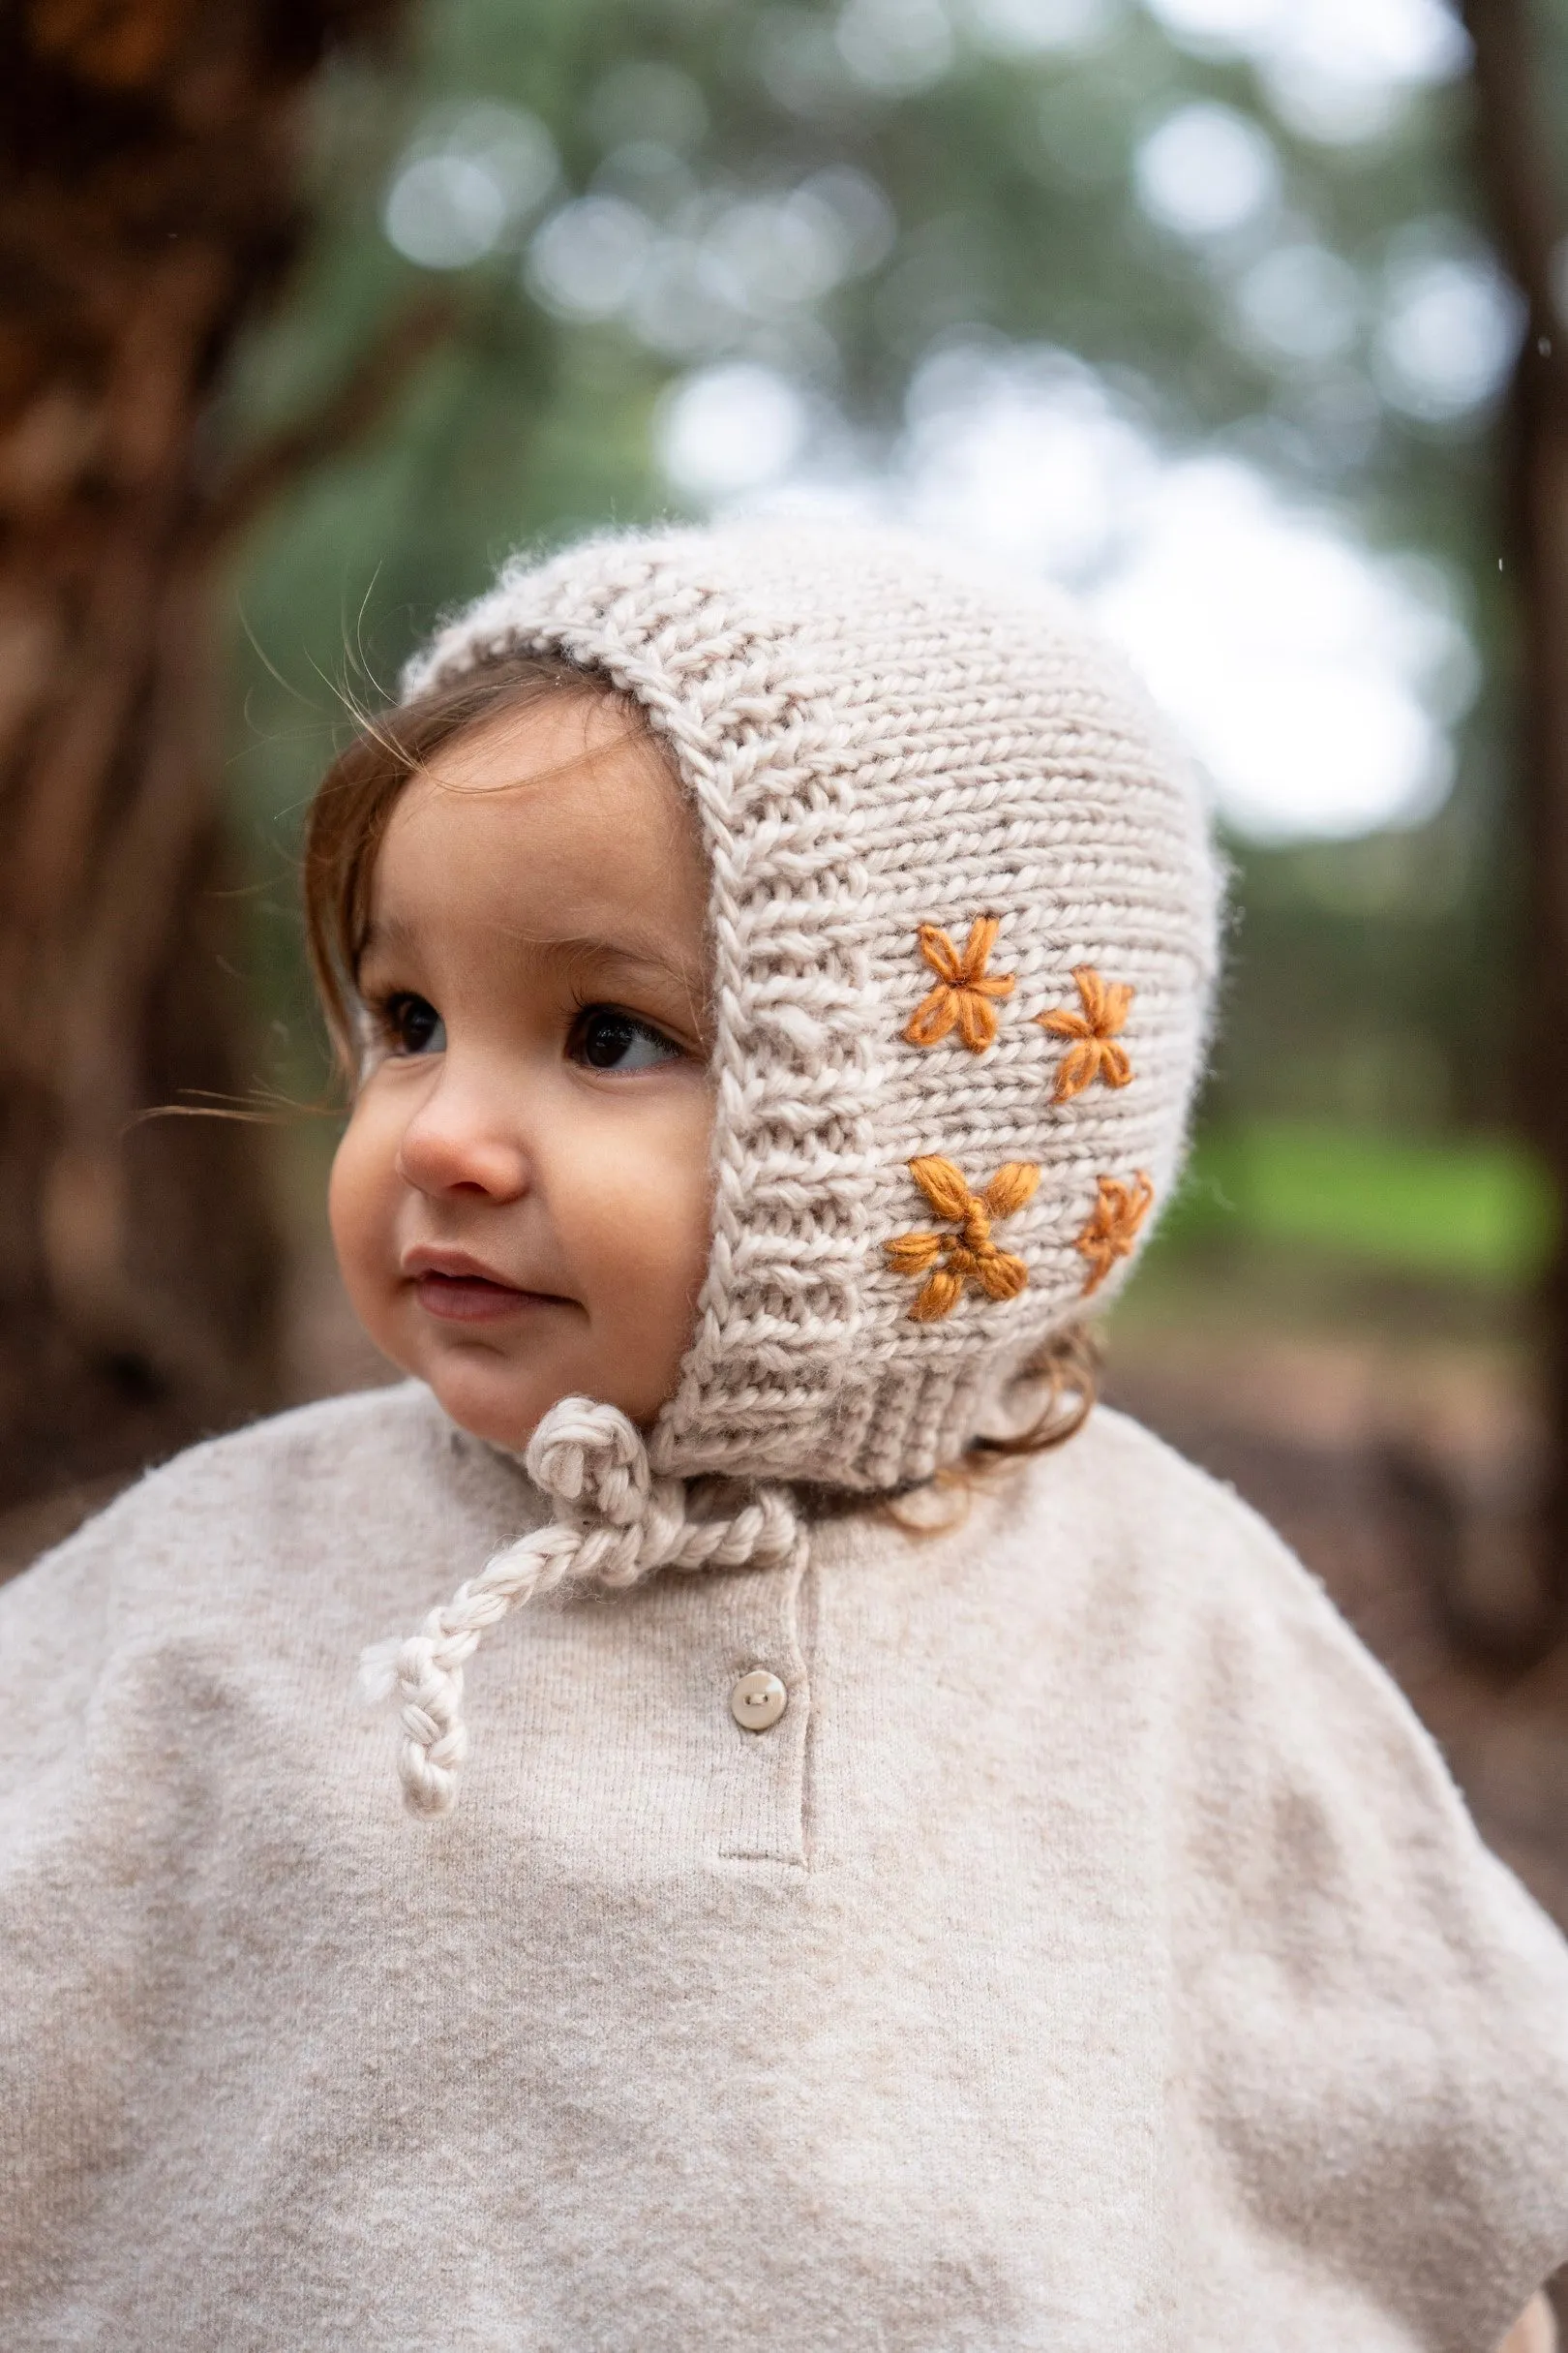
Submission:
M 331 1049 L 350 1085 L 360 1064 L 353 1000 L 371 878 L 397 795 L 454 736 L 545 694 L 597 694 L 625 713 L 628 732 L 649 732 L 642 704 L 597 671 L 562 654 L 498 654 L 402 708 L 355 713 L 360 734 L 322 776 L 306 821 L 306 946 Z

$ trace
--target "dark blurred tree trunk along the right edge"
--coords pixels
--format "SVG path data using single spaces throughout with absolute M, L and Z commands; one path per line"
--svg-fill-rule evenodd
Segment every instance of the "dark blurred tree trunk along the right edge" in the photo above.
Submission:
M 1542 1574 L 1568 1626 L 1568 334 L 1552 282 L 1559 200 L 1528 0 L 1467 0 L 1476 144 L 1493 233 L 1526 301 L 1507 409 L 1507 536 L 1521 652 L 1528 936 L 1523 1108 L 1556 1181 L 1559 1238 L 1542 1282 L 1547 1497 Z

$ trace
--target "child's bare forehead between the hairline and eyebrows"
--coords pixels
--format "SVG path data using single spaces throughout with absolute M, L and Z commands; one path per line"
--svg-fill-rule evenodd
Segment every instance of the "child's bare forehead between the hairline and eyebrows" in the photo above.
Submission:
M 696 812 L 668 758 L 602 694 L 550 694 L 442 744 L 393 809 L 376 918 L 454 901 L 552 929 L 597 929 L 635 906 L 701 927 L 705 861 Z

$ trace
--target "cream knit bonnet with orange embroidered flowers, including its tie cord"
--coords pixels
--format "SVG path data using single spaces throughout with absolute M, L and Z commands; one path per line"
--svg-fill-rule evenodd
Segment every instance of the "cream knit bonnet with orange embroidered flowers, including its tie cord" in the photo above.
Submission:
M 383 1649 L 418 1812 L 520 1600 L 783 1560 L 797 1482 L 900 1489 L 1006 1421 L 1171 1195 L 1215 976 L 1192 772 L 1051 591 L 886 529 L 616 534 L 508 565 L 404 696 L 512 652 L 632 694 L 696 807 L 712 1249 L 646 1440 L 557 1405 L 527 1454 L 552 1525 Z M 705 1518 L 705 1473 L 743 1504 Z

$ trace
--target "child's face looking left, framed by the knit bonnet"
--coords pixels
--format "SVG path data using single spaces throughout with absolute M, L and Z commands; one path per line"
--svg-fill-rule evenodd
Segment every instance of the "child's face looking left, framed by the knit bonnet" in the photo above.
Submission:
M 602 699 L 456 736 L 395 805 L 331 1172 L 360 1320 L 454 1421 L 527 1445 L 557 1398 L 649 1421 L 708 1264 L 696 821 Z

